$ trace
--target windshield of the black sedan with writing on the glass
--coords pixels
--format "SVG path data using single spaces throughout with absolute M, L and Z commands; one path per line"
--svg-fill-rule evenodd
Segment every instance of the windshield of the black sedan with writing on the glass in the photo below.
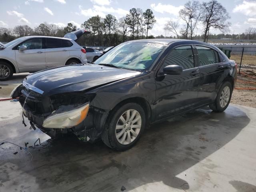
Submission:
M 127 42 L 106 52 L 95 64 L 112 64 L 129 70 L 148 70 L 166 47 L 160 43 Z

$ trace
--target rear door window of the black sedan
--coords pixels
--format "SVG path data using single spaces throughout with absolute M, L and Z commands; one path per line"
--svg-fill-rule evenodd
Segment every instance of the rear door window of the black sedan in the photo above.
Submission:
M 196 46 L 198 52 L 199 66 L 219 63 L 218 53 L 208 47 Z

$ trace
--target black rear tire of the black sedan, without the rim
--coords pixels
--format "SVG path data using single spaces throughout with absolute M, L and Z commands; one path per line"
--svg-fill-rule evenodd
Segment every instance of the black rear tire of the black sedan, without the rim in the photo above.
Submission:
M 230 90 L 230 95 L 229 95 L 229 99 L 228 99 L 228 103 L 226 104 L 226 106 L 222 107 L 220 104 L 220 96 L 222 95 L 222 90 L 228 86 L 229 90 Z M 222 86 L 219 89 L 219 92 L 216 96 L 216 99 L 214 100 L 214 102 L 212 104 L 209 105 L 210 109 L 213 110 L 214 112 L 223 112 L 229 105 L 231 97 L 232 97 L 232 84 L 230 82 L 224 82 L 222 84 Z

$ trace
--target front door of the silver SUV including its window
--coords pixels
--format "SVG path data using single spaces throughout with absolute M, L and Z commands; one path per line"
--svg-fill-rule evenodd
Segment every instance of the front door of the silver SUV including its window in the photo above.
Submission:
M 26 46 L 24 51 L 20 46 Z M 43 38 L 31 38 L 13 48 L 20 72 L 36 72 L 46 68 Z

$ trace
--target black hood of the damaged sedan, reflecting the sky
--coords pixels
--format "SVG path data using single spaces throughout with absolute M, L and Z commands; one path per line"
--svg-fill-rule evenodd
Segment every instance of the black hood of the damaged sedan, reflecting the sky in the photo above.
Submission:
M 36 72 L 24 80 L 42 90 L 43 95 L 53 95 L 84 91 L 140 73 L 97 64 L 78 64 Z

